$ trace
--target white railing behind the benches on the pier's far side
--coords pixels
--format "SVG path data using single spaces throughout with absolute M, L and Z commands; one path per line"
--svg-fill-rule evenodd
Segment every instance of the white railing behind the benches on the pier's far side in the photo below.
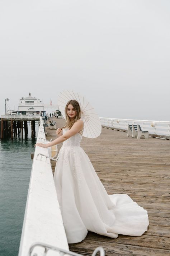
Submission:
M 127 131 L 127 124 L 140 125 L 143 131 L 148 131 L 151 136 L 170 139 L 169 121 L 148 121 L 133 119 L 117 119 L 100 117 L 101 125 L 104 127 Z

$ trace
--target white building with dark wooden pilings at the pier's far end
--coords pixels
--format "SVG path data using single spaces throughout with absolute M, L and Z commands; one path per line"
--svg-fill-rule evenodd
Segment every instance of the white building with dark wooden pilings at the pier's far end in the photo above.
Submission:
M 1 115 L 0 118 L 0 139 L 12 139 L 17 135 L 22 136 L 28 134 L 28 125 L 31 125 L 32 138 L 36 135 L 36 123 L 40 116 L 46 116 L 47 109 L 59 111 L 57 104 L 44 104 L 40 99 L 32 97 L 29 93 L 28 97 L 22 97 L 19 100 L 18 111 L 15 113 L 8 112 Z

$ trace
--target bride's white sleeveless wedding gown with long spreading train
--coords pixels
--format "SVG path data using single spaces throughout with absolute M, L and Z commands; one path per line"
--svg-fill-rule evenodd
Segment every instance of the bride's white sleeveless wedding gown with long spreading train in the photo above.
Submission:
M 149 224 L 147 211 L 127 194 L 107 194 L 81 139 L 78 133 L 63 142 L 54 174 L 68 243 L 81 242 L 88 230 L 112 238 L 141 236 Z

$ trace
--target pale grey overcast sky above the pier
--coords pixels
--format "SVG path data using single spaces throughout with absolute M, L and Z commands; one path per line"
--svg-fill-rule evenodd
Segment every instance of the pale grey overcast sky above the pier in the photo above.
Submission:
M 0 0 L 0 85 L 0 114 L 71 89 L 100 117 L 170 121 L 170 1 Z

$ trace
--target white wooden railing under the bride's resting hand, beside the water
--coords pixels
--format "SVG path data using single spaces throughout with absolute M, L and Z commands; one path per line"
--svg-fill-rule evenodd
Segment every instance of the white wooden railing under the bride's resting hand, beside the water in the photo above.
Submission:
M 37 142 L 44 143 L 46 137 L 42 131 L 43 120 L 40 117 Z M 38 154 L 49 156 L 48 149 L 36 147 L 25 208 L 19 256 L 27 256 L 34 243 L 51 244 L 54 247 L 69 250 L 57 200 L 51 163 L 49 158 L 44 156 L 37 157 Z M 36 247 L 31 255 L 42 255 L 41 253 L 42 248 Z M 56 255 L 56 253 L 51 252 L 50 255 Z

